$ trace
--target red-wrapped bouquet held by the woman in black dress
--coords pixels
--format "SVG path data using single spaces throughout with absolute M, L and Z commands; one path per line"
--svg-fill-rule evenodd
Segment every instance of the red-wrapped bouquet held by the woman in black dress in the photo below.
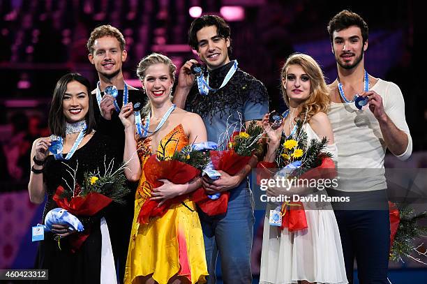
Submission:
M 73 185 L 70 186 L 68 181 L 63 178 L 67 187 L 58 186 L 54 194 L 53 200 L 62 209 L 66 209 L 74 216 L 85 218 L 94 216 L 112 201 L 120 204 L 125 203 L 125 197 L 130 193 L 129 188 L 126 187 L 126 177 L 123 172 L 126 163 L 114 172 L 114 160 L 111 160 L 109 165 L 104 163 L 104 175 L 101 175 L 99 170 L 97 172 L 85 172 L 81 185 L 77 184 L 76 181 L 78 161 L 75 169 L 66 163 L 63 164 L 68 167 L 67 172 L 73 177 Z M 49 221 L 45 221 L 45 223 L 49 223 Z M 69 239 L 73 251 L 80 248 L 87 237 L 89 237 L 89 230 L 72 234 Z

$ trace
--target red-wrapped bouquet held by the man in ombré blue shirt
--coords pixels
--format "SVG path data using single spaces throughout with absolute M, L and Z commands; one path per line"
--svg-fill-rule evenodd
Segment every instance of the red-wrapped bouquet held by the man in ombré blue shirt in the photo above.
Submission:
M 263 133 L 262 127 L 258 126 L 256 121 L 251 121 L 246 130 L 234 132 L 226 150 L 210 151 L 213 168 L 230 175 L 240 172 L 254 154 L 260 154 L 262 151 L 260 139 Z M 223 192 L 213 199 L 203 188 L 193 193 L 193 200 L 209 216 L 225 214 L 229 197 L 229 192 Z

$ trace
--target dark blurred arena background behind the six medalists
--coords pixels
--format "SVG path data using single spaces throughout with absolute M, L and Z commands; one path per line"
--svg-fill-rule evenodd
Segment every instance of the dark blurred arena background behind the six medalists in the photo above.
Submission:
M 140 87 L 135 70 L 142 57 L 162 52 L 179 68 L 195 58 L 187 45 L 193 18 L 220 15 L 232 29 L 230 59 L 238 59 L 240 68 L 264 82 L 271 109 L 284 110 L 279 74 L 292 52 L 310 54 L 321 64 L 327 81 L 335 80 L 326 27 L 345 8 L 368 22 L 366 70 L 398 84 L 405 98 L 414 154 L 406 163 L 387 156 L 387 166 L 427 167 L 423 77 L 427 61 L 420 43 L 426 31 L 417 1 L 0 0 L 0 269 L 33 265 L 36 244 L 31 244 L 30 229 L 40 222 L 43 207 L 31 204 L 27 193 L 31 144 L 50 134 L 47 113 L 59 77 L 79 72 L 96 86 L 98 78 L 86 49 L 93 28 L 112 24 L 121 30 L 128 51 L 123 75 L 128 84 Z M 263 214 L 255 212 L 254 283 Z M 409 261 L 390 267 L 393 283 L 425 283 L 424 264 Z

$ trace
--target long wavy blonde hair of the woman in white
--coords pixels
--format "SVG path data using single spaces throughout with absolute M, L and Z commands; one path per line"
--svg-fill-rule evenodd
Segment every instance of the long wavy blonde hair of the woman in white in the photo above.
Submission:
M 324 81 L 322 69 L 313 57 L 303 53 L 291 54 L 290 57 L 287 58 L 280 72 L 282 96 L 287 107 L 289 107 L 289 97 L 286 94 L 285 80 L 287 68 L 290 65 L 301 66 L 310 78 L 310 96 L 308 96 L 307 100 L 302 103 L 301 111 L 295 119 L 306 119 L 306 122 L 308 122 L 313 115 L 317 114 L 317 112 L 326 113 L 329 109 L 329 105 L 331 104 L 331 98 L 329 97 L 327 84 Z

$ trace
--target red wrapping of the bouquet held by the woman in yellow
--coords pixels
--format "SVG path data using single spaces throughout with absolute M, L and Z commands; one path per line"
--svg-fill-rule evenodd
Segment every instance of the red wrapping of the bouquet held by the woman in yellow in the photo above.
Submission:
M 150 156 L 143 170 L 147 183 L 152 186 L 151 190 L 163 185 L 161 181 L 158 181 L 159 179 L 167 179 L 173 184 L 186 184 L 200 174 L 200 170 L 187 163 L 179 160 L 158 160 L 156 155 Z M 188 194 L 178 195 L 167 200 L 160 207 L 158 206 L 159 201 L 148 199 L 142 204 L 137 222 L 147 224 L 150 218 L 165 215 L 172 204 L 183 202 L 187 197 Z

